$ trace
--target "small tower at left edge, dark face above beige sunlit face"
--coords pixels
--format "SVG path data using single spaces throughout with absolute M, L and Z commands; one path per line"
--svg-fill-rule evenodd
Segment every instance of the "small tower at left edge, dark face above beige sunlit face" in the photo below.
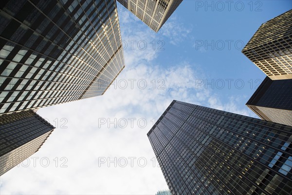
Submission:
M 55 127 L 32 110 L 0 117 L 0 176 L 36 153 Z

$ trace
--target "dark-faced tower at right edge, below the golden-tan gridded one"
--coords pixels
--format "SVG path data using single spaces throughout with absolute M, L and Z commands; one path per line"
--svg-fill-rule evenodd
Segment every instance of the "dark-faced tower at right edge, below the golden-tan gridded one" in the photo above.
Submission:
M 246 105 L 264 120 L 292 126 L 292 79 L 266 77 Z

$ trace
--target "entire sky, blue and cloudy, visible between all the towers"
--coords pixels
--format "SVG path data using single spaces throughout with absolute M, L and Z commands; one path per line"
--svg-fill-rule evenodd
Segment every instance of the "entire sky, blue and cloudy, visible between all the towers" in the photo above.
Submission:
M 256 117 L 265 75 L 241 49 L 291 1 L 207 2 L 184 0 L 158 33 L 118 4 L 126 68 L 103 96 L 39 109 L 57 128 L 0 194 L 154 195 L 167 185 L 146 133 L 173 99 Z

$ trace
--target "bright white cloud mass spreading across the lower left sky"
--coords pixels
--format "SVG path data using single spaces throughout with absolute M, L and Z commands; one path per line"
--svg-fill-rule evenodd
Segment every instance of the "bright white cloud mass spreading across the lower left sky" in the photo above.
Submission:
M 50 166 L 42 167 L 37 161 L 36 167 L 31 165 L 12 169 L 1 178 L 1 194 L 136 195 L 155 194 L 160 189 L 166 189 L 163 174 L 157 167 L 157 161 L 154 161 L 154 153 L 146 137 L 153 125 L 153 118 L 156 121 L 173 99 L 197 104 L 207 100 L 210 107 L 242 112 L 237 110 L 233 102 L 235 98 L 224 105 L 210 91 L 196 89 L 192 81 L 199 76 L 201 78 L 202 73 L 196 72 L 186 62 L 166 70 L 151 65 L 151 61 L 148 64 L 130 64 L 114 83 L 116 89 L 112 85 L 105 95 L 40 109 L 38 114 L 48 118 L 54 125 L 58 121 L 58 127 L 64 124 L 61 118 L 66 118 L 68 123 L 65 126 L 68 128 L 56 129 L 34 155 L 39 159 L 47 157 Z M 129 78 L 137 81 L 146 79 L 148 85 L 146 89 L 137 85 L 133 85 L 133 89 L 130 85 L 126 89 L 118 87 L 119 80 Z M 153 89 L 150 85 L 151 80 L 158 78 L 165 81 L 165 89 L 157 89 L 157 85 Z M 115 118 L 117 128 L 114 124 L 110 124 L 110 128 L 108 124 L 99 127 L 100 119 L 114 122 Z M 129 118 L 136 118 L 133 128 Z M 145 118 L 146 127 L 139 128 L 139 118 Z M 124 123 L 118 123 L 119 120 L 123 122 L 121 119 L 128 122 L 126 128 L 122 128 Z M 56 157 L 58 167 L 55 167 Z M 68 167 L 60 167 L 65 162 L 60 160 L 61 157 L 68 159 L 65 163 Z M 131 157 L 134 157 L 133 167 Z M 100 160 L 104 158 L 107 162 L 115 161 L 117 167 L 114 162 L 109 167 L 107 163 L 99 166 Z M 125 158 L 127 166 L 120 167 L 119 164 L 125 164 Z M 145 167 L 141 167 L 143 159 L 147 160 Z

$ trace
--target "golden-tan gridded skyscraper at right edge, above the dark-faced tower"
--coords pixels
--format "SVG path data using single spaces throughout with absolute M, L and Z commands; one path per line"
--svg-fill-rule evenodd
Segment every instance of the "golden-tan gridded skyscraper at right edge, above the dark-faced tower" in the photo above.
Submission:
M 263 23 L 242 53 L 272 80 L 292 78 L 292 10 Z

